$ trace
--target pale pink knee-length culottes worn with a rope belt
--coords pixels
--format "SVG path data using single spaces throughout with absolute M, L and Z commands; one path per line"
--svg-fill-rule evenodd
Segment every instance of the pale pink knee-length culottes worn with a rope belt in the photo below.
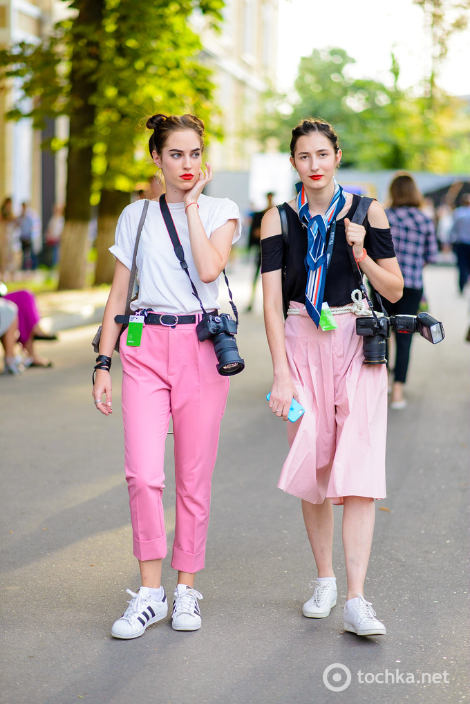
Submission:
M 286 353 L 299 403 L 288 422 L 288 453 L 279 489 L 310 503 L 343 503 L 344 496 L 385 498 L 386 365 L 362 363 L 356 316 L 336 315 L 336 330 L 315 326 L 305 306 L 289 315 Z

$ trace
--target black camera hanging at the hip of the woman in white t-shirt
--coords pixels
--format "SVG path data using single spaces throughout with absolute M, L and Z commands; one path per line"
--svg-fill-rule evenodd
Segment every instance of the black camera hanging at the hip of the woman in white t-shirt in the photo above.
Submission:
M 217 372 L 223 377 L 229 377 L 243 372 L 245 362 L 239 355 L 236 346 L 236 329 L 238 325 L 231 315 L 204 315 L 201 322 L 196 325 L 198 340 L 212 340 L 215 356 L 217 357 Z

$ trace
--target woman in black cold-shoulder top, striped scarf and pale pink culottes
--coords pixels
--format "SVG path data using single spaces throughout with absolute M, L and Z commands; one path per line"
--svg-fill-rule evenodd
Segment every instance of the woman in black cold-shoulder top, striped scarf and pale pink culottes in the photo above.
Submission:
M 344 192 L 336 182 L 340 161 L 338 138 L 327 123 L 304 120 L 293 130 L 291 163 L 301 187 L 296 199 L 284 203 L 288 220 L 284 285 L 277 208 L 262 221 L 265 325 L 274 370 L 269 408 L 283 420 L 292 398 L 305 408 L 300 420 L 288 422 L 291 450 L 278 484 L 302 499 L 317 563 L 315 591 L 303 605 L 303 614 L 326 617 L 336 605 L 332 504 L 343 504 L 348 580 L 343 624 L 358 635 L 385 634 L 364 599 L 364 579 L 374 532 L 374 498 L 386 496 L 387 371 L 385 365 L 362 363 L 354 313 L 365 306 L 352 303 L 359 275 L 348 248 L 352 246 L 361 271 L 389 301 L 402 295 L 403 279 L 379 203 L 371 203 L 366 227 L 351 222 L 360 196 Z M 328 266 L 332 230 L 336 231 Z M 285 326 L 283 296 L 289 304 Z M 333 326 L 325 304 L 333 314 Z

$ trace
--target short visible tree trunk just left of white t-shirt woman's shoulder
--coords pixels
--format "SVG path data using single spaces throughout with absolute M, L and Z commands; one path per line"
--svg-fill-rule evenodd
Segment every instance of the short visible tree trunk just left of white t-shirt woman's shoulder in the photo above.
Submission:
M 128 206 L 130 196 L 123 191 L 101 191 L 101 201 L 98 212 L 98 237 L 96 238 L 96 272 L 95 284 L 110 284 L 113 282 L 114 257 L 108 251 L 114 244 L 116 223 L 125 206 Z

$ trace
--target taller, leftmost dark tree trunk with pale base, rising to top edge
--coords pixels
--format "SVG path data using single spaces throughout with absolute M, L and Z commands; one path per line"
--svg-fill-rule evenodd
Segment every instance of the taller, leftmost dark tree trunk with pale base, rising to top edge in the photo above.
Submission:
M 80 0 L 73 24 L 75 46 L 70 71 L 70 137 L 67 161 L 65 228 L 62 235 L 58 289 L 85 285 L 90 219 L 92 132 L 96 108 L 96 68 L 104 0 Z M 96 31 L 89 39 L 90 27 Z

